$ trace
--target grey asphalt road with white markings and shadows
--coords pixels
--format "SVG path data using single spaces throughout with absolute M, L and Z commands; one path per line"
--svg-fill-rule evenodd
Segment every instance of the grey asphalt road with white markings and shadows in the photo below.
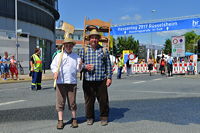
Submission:
M 79 127 L 70 128 L 65 110 L 63 130 L 56 129 L 53 81 L 44 81 L 43 90 L 31 91 L 30 82 L 0 84 L 0 133 L 199 133 L 199 79 L 138 74 L 122 76 L 109 88 L 109 125 L 87 126 L 81 81 L 78 83 Z M 67 107 L 67 106 L 66 106 Z

